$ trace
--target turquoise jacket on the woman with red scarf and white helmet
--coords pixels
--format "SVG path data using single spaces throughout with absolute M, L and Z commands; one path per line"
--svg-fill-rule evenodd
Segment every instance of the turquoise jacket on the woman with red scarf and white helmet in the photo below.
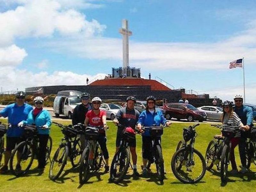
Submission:
M 27 120 L 23 121 L 23 123 L 29 124 L 29 125 L 36 124 L 36 126 L 43 126 L 46 124 L 50 128 L 50 126 L 52 125 L 52 119 L 51 119 L 50 113 L 45 109 L 43 109 L 40 113 L 38 113 L 36 118 L 34 119 L 33 110 L 32 110 L 29 112 Z M 38 134 L 49 135 L 50 130 L 39 128 Z

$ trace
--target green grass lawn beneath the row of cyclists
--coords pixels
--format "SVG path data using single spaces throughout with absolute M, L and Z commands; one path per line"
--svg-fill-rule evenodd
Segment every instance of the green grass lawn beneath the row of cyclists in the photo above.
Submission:
M 1 120 L 3 123 L 5 120 Z M 60 123 L 66 123 L 61 121 Z M 109 131 L 107 132 L 108 142 L 107 147 L 110 155 L 110 163 L 115 152 L 115 141 L 116 141 L 116 126 L 109 123 Z M 127 178 L 120 184 L 109 183 L 109 173 L 103 174 L 103 169 L 98 174 L 92 176 L 88 183 L 79 185 L 78 169 L 72 169 L 71 163 L 65 166 L 64 171 L 60 178 L 55 182 L 48 178 L 49 163 L 46 165 L 45 171 L 42 175 L 38 175 L 36 170 L 33 170 L 37 166 L 37 162 L 34 161 L 32 170 L 23 177 L 16 178 L 11 174 L 0 175 L 0 191 L 253 191 L 256 186 L 255 165 L 251 166 L 250 173 L 244 175 L 237 175 L 229 177 L 227 184 L 221 184 L 220 174 L 216 172 L 206 171 L 203 180 L 197 184 L 183 184 L 177 180 L 172 174 L 171 170 L 171 159 L 175 152 L 177 143 L 182 139 L 183 128 L 189 124 L 177 124 L 174 123 L 170 128 L 165 129 L 164 135 L 162 136 L 162 148 L 164 155 L 164 165 L 167 172 L 164 185 L 159 185 L 156 180 L 156 176 L 152 175 L 150 178 L 140 177 L 134 180 L 132 177 L 132 170 L 129 169 Z M 195 148 L 198 149 L 204 156 L 206 147 L 213 135 L 218 134 L 220 131 L 217 128 L 212 128 L 210 124 L 201 124 L 197 127 L 198 136 L 196 137 Z M 60 144 L 62 133 L 60 128 L 53 125 L 51 128 L 51 136 L 53 138 L 53 156 L 55 150 Z M 137 155 L 138 155 L 138 171 L 141 173 L 140 165 L 142 164 L 141 155 L 141 137 L 137 138 Z M 235 150 L 236 163 L 238 167 L 241 165 L 238 147 Z M 155 173 L 155 164 L 151 165 L 152 172 Z M 229 167 L 230 168 L 230 167 Z M 214 167 L 216 170 L 216 167 Z

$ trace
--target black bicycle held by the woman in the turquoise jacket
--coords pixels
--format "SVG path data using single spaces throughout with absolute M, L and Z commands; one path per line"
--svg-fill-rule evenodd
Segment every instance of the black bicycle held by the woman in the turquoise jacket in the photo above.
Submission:
M 38 129 L 43 129 L 40 126 L 36 125 L 23 125 L 24 133 L 22 136 L 23 141 L 21 141 L 12 151 L 10 157 L 10 170 L 13 175 L 19 177 L 24 175 L 30 169 L 33 160 L 38 157 L 39 149 L 39 139 L 37 137 Z M 45 161 L 50 157 L 52 150 L 52 138 L 49 136 L 47 146 L 46 146 L 46 156 Z M 20 157 L 19 160 L 17 157 Z M 17 168 L 17 165 L 20 165 L 20 168 Z M 16 165 L 16 169 L 14 169 Z

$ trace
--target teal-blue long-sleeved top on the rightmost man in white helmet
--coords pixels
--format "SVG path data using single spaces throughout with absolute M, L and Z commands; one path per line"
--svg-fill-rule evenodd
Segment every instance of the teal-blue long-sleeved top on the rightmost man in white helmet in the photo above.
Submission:
M 245 106 L 245 105 L 242 105 L 242 107 L 240 109 L 238 109 L 235 106 L 234 107 L 234 111 L 239 116 L 239 118 L 241 119 L 241 122 L 244 125 L 249 125 L 249 126 L 253 125 L 253 112 L 252 112 L 252 108 L 250 108 L 248 106 Z

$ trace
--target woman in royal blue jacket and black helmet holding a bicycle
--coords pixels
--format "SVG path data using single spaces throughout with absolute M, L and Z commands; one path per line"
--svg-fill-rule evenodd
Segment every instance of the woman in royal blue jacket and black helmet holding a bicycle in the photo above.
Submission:
M 160 110 L 155 108 L 156 98 L 154 96 L 148 96 L 146 110 L 142 111 L 139 116 L 137 128 L 141 132 L 142 125 L 149 127 L 152 125 L 160 126 L 160 124 L 166 124 L 169 126 L 171 122 L 167 121 L 164 118 L 164 115 Z M 147 163 L 151 158 L 151 137 L 149 130 L 146 129 L 142 134 L 142 160 L 143 160 L 143 175 L 146 175 L 148 172 Z

